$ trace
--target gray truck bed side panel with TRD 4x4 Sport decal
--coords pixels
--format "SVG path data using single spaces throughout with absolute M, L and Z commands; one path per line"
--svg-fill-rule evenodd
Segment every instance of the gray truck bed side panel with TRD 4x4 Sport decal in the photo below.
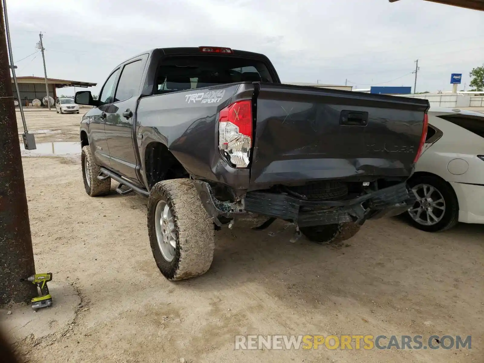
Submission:
M 220 100 L 202 103 L 202 97 L 197 95 L 211 91 L 224 92 L 212 97 Z M 141 98 L 137 108 L 136 139 L 143 170 L 146 147 L 151 142 L 160 142 L 197 179 L 221 182 L 245 191 L 249 170 L 235 169 L 221 157 L 216 116 L 230 102 L 251 99 L 253 93 L 252 84 L 231 84 Z M 192 97 L 194 94 L 196 97 Z

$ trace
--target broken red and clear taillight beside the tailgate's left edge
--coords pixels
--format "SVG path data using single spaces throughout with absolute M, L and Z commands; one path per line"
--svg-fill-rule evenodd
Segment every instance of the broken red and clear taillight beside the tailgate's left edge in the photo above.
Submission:
M 236 167 L 249 165 L 252 146 L 252 101 L 237 101 L 219 113 L 218 147 Z

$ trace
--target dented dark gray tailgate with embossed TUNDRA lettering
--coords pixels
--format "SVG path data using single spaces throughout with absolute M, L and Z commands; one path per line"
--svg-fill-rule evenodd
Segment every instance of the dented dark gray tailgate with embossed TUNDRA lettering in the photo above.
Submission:
M 359 177 L 408 177 L 428 102 L 261 84 L 250 189 Z

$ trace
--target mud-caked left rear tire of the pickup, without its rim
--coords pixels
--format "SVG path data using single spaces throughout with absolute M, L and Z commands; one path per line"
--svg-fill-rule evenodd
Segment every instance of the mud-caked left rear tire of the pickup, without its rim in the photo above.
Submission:
M 171 262 L 163 257 L 156 240 L 154 216 L 159 200 L 166 202 L 175 224 L 177 246 Z M 188 279 L 209 270 L 215 249 L 213 222 L 189 179 L 160 181 L 151 188 L 148 235 L 156 265 L 168 280 Z

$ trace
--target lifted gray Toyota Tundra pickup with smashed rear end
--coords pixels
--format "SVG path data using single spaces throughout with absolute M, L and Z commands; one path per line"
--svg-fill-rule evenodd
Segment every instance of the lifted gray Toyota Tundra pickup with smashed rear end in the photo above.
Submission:
M 80 125 L 86 192 L 149 197 L 163 275 L 206 272 L 214 230 L 238 216 L 352 237 L 413 205 L 406 181 L 427 131 L 422 99 L 281 84 L 269 59 L 222 47 L 160 48 L 117 66 Z M 261 221 L 262 222 L 262 221 Z

